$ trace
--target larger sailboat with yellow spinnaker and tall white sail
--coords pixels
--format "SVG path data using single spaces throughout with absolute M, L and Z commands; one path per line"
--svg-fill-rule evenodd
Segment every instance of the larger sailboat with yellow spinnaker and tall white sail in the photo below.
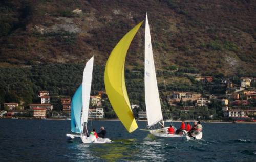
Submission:
M 105 89 L 109 97 L 111 105 L 117 114 L 118 118 L 127 129 L 128 132 L 133 132 L 138 128 L 137 123 L 133 117 L 129 98 L 127 96 L 126 86 L 124 82 L 124 64 L 127 50 L 131 44 L 132 39 L 139 30 L 140 22 L 131 31 L 129 31 L 112 50 L 111 55 L 105 67 Z M 151 44 L 150 26 L 148 24 L 146 15 L 145 25 L 145 103 L 147 112 L 148 128 L 160 123 L 164 126 L 160 98 L 157 87 L 156 70 L 154 65 L 153 50 Z M 166 128 L 151 129 L 151 134 L 158 137 L 175 137 L 189 139 L 185 134 L 168 134 Z

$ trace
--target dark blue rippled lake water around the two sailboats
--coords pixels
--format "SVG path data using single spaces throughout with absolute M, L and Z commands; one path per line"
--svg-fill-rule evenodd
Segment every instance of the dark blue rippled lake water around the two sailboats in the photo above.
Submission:
M 92 121 L 88 128 L 101 125 L 113 143 L 67 142 L 69 120 L 0 119 L 0 161 L 256 161 L 256 124 L 202 123 L 203 139 L 190 141 L 130 134 L 119 121 Z

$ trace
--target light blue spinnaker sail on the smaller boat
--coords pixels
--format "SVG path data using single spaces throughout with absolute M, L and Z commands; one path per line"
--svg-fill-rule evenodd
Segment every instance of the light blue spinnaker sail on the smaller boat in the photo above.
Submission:
M 82 85 L 78 87 L 71 101 L 71 131 L 74 133 L 82 133 L 81 111 L 82 111 Z

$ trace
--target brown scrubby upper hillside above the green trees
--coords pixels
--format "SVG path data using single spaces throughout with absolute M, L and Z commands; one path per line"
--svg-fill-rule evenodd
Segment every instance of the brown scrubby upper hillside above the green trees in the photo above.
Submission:
M 157 68 L 255 75 L 255 1 L 1 1 L 0 65 L 104 65 L 118 40 L 148 13 Z M 72 13 L 79 8 L 81 13 Z M 143 66 L 144 26 L 127 55 Z

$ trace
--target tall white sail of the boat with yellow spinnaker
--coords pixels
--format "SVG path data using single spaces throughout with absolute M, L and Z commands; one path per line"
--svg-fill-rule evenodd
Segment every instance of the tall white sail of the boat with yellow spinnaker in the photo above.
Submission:
M 146 15 L 145 28 L 145 102 L 148 126 L 152 126 L 163 119 L 160 98 L 157 87 L 157 77 L 153 58 L 150 26 Z

